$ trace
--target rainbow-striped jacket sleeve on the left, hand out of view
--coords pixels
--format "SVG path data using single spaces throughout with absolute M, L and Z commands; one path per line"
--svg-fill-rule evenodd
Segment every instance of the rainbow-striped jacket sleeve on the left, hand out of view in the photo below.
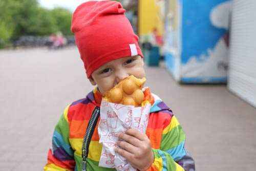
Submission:
M 55 126 L 52 149 L 48 152 L 48 163 L 44 167 L 45 171 L 74 170 L 74 151 L 69 143 L 69 106 L 61 115 Z

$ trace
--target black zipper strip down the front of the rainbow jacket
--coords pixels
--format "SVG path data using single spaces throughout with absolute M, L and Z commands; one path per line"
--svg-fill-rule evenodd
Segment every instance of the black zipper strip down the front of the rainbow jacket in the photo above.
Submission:
M 96 106 L 91 116 L 91 119 L 88 123 L 86 135 L 83 137 L 82 142 L 82 171 L 86 171 L 86 159 L 88 157 L 89 145 L 93 136 L 93 132 L 95 130 L 95 126 L 97 124 L 99 118 L 100 108 Z

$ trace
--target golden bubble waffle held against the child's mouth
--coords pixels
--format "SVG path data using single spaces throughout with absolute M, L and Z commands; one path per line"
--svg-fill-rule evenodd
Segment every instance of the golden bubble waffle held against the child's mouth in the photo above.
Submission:
M 144 93 L 141 89 L 145 81 L 146 78 L 129 76 L 107 91 L 103 99 L 112 103 L 141 106 L 144 100 Z

